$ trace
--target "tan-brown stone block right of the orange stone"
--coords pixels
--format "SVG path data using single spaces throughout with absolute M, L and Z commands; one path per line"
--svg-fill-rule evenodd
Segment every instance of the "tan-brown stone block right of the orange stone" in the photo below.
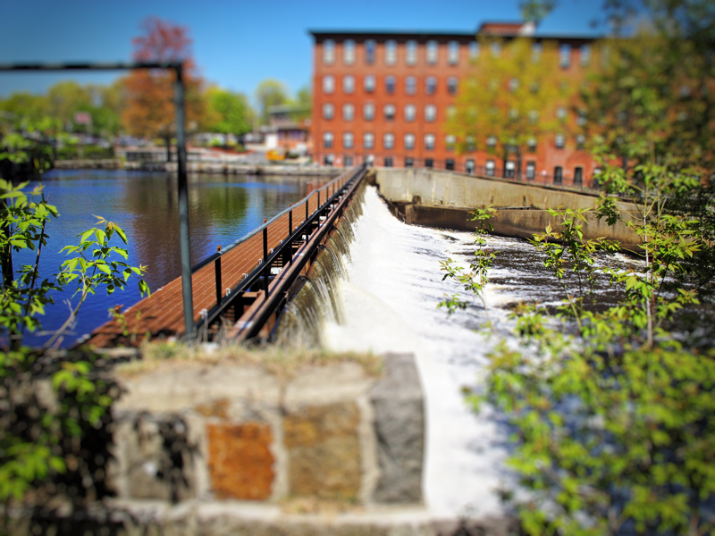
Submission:
M 359 422 L 354 402 L 309 406 L 286 415 L 290 495 L 357 499 L 362 474 Z

